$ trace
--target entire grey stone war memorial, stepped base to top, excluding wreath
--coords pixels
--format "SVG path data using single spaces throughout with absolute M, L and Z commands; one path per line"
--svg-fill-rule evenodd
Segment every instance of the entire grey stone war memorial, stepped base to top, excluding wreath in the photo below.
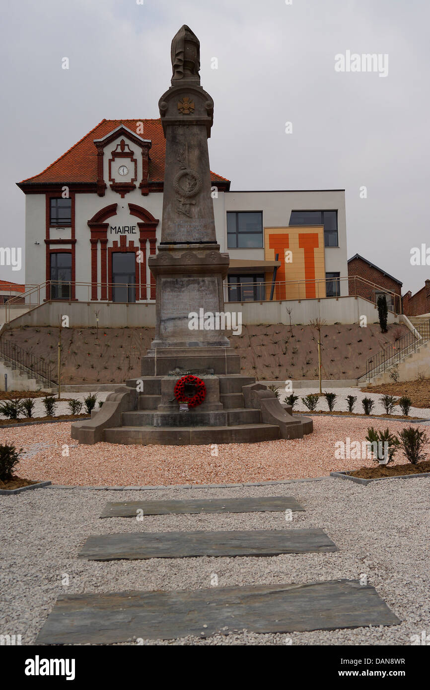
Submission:
M 273 391 L 242 376 L 225 334 L 229 258 L 215 234 L 207 142 L 213 100 L 200 86 L 199 41 L 188 26 L 173 39 L 172 66 L 159 101 L 166 137 L 162 237 L 148 259 L 156 280 L 155 339 L 141 360 L 141 378 L 108 395 L 90 420 L 72 424 L 72 437 L 162 445 L 302 438 L 312 420 L 293 416 Z M 181 411 L 175 384 L 189 374 L 204 382 L 206 396 Z

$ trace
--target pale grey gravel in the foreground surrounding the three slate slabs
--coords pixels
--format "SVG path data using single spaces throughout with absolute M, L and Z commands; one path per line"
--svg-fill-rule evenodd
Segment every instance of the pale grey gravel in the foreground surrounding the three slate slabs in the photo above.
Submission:
M 430 633 L 429 489 L 429 479 L 417 478 L 369 486 L 325 479 L 237 489 L 145 492 L 148 500 L 293 495 L 306 509 L 294 513 L 293 522 L 286 522 L 284 513 L 157 515 L 144 517 L 143 522 L 99 520 L 107 501 L 141 500 L 142 493 L 137 491 L 38 489 L 0 496 L 0 629 L 3 634 L 21 634 L 22 644 L 34 644 L 61 593 L 208 588 L 213 573 L 218 576 L 218 586 L 356 580 L 364 574 L 398 615 L 400 625 L 275 635 L 238 633 L 207 640 L 158 640 L 156 644 L 408 645 L 411 635 Z M 324 529 L 340 551 L 272 558 L 77 559 L 92 534 L 309 527 Z M 62 584 L 65 575 L 68 586 Z

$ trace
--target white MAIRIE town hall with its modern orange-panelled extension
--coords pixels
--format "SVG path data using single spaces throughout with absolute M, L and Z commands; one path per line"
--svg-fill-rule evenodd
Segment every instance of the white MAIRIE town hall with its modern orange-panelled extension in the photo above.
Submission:
M 153 302 L 164 156 L 159 119 L 104 119 L 19 182 L 26 290 L 41 286 L 48 301 Z M 233 191 L 222 175 L 211 179 L 217 242 L 230 255 L 227 302 L 348 295 L 344 190 Z

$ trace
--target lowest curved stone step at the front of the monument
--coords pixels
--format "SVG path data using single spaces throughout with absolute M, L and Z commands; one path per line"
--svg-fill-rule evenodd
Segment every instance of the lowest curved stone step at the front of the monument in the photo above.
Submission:
M 103 440 L 107 443 L 188 446 L 213 443 L 257 443 L 280 437 L 275 424 L 237 424 L 232 426 L 115 426 L 105 428 Z

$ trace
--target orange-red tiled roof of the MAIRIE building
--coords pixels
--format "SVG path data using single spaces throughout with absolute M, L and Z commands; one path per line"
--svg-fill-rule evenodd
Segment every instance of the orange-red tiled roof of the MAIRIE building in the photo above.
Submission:
M 68 182 L 92 182 L 97 181 L 97 149 L 95 139 L 102 139 L 121 124 L 124 124 L 132 132 L 137 131 L 137 123 L 143 122 L 144 132 L 139 134 L 142 139 L 150 139 L 153 144 L 149 151 L 149 181 L 161 182 L 164 180 L 164 157 L 166 155 L 166 139 L 164 139 L 162 122 L 154 120 L 101 120 L 99 124 L 85 137 L 82 137 L 75 146 L 69 148 L 66 153 L 57 158 L 48 168 L 39 172 L 39 175 L 23 179 L 19 184 L 37 182 L 40 184 L 55 183 L 66 184 Z M 212 181 L 226 181 L 226 177 L 211 172 Z

